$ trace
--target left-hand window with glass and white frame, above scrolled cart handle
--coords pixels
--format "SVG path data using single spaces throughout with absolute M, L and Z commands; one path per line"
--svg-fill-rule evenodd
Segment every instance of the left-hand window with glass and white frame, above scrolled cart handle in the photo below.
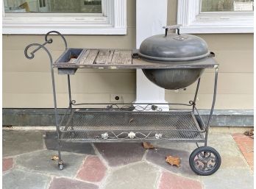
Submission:
M 4 34 L 127 34 L 126 0 L 4 0 Z

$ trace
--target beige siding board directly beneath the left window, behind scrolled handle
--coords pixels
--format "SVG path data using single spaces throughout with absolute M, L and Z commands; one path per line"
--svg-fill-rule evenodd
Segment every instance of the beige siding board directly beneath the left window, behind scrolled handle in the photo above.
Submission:
M 131 49 L 135 47 L 135 26 L 128 26 L 127 35 L 65 35 L 68 47 L 76 48 L 115 48 Z M 50 51 L 65 49 L 62 38 L 51 35 L 53 43 L 48 44 Z M 24 50 L 30 43 L 43 43 L 43 35 L 4 35 L 4 50 Z

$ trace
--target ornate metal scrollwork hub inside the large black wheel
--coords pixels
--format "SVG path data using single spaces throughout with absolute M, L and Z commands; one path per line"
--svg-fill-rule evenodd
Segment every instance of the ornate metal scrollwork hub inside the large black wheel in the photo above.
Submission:
M 210 151 L 202 151 L 199 154 L 196 154 L 193 164 L 198 171 L 210 172 L 217 165 L 216 156 Z

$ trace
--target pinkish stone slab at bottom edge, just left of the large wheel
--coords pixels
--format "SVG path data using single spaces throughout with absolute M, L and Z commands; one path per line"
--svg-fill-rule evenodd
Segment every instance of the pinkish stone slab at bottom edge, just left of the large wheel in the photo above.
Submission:
M 203 189 L 199 181 L 163 172 L 158 189 Z

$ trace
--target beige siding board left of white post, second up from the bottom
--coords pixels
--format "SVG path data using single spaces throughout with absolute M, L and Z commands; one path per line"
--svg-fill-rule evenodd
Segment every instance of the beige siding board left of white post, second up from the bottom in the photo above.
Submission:
M 51 74 L 4 73 L 4 93 L 51 93 Z M 55 75 L 57 93 L 68 91 L 67 76 Z M 134 73 L 77 73 L 71 76 L 74 93 L 135 93 Z

